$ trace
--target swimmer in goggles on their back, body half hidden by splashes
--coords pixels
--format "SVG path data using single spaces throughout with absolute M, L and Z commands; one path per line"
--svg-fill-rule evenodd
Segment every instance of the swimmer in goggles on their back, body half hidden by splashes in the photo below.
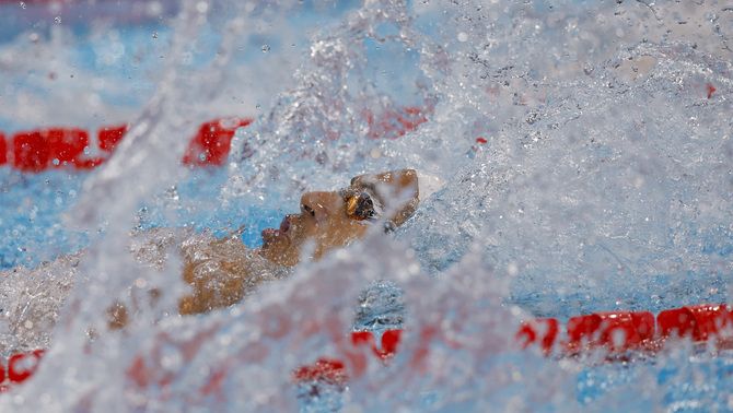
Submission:
M 263 282 L 288 276 L 302 259 L 318 260 L 362 238 L 375 225 L 385 232 L 400 226 L 418 206 L 418 184 L 422 187 L 422 180 L 420 177 L 418 182 L 414 169 L 400 169 L 357 176 L 339 191 L 306 192 L 301 197 L 300 213 L 286 215 L 277 229 L 263 231 L 258 249 L 247 248 L 237 233 L 217 239 L 209 233 L 159 228 L 136 234 L 131 250 L 139 262 L 162 269 L 166 251 L 177 248 L 183 258 L 183 280 L 190 286 L 190 292 L 177 300 L 177 312 L 203 314 L 238 303 Z M 0 337 L 0 350 L 33 347 L 33 342 L 35 346 L 48 345 L 48 332 L 78 276 L 81 256 L 62 256 L 34 270 L 0 271 L 0 282 L 9 283 L 12 290 L 36 292 L 4 297 L 0 327 L 3 317 L 8 327 L 0 330 L 8 330 L 12 340 Z M 152 299 L 161 294 L 158 290 L 150 292 Z M 129 317 L 128 307 L 112 305 L 108 328 L 124 328 Z

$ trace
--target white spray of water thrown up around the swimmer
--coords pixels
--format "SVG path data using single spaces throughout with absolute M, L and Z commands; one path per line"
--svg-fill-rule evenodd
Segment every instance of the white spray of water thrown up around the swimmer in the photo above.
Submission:
M 182 318 L 166 316 L 185 292 L 175 250 L 162 244 L 168 259 L 141 266 L 127 253 L 128 232 L 141 202 L 186 177 L 178 137 L 232 79 L 237 39 L 263 15 L 298 7 L 229 4 L 222 52 L 190 67 L 186 56 L 206 37 L 200 3 L 183 3 L 155 94 L 84 185 L 73 224 L 103 234 L 71 272 L 54 339 L 45 329 L 37 341 L 50 351 L 36 377 L 0 406 L 730 409 L 726 358 L 689 346 L 658 364 L 598 367 L 517 353 L 513 343 L 525 311 L 563 317 L 726 299 L 730 8 L 364 1 L 314 35 L 292 83 L 237 132 L 217 196 L 230 209 L 294 206 L 304 189 L 405 166 L 446 184 L 394 238 L 371 234 L 241 305 Z M 374 138 L 389 128 L 370 119 L 412 105 L 428 122 L 398 140 Z M 141 297 L 151 287 L 170 294 L 148 305 Z M 18 290 L 8 296 L 27 302 Z M 137 309 L 125 332 L 104 327 L 115 300 Z M 354 355 L 346 343 L 354 323 L 405 328 L 399 353 L 386 366 Z M 348 388 L 293 384 L 294 368 L 322 356 L 350 361 Z M 362 374 L 354 359 L 364 361 Z M 685 387 L 690 377 L 697 381 Z

